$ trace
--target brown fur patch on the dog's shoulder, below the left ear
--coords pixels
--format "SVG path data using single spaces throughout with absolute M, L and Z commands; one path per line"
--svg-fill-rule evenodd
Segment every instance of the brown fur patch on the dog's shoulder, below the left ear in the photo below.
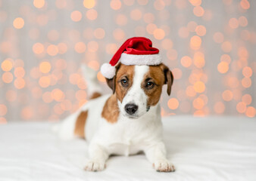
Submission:
M 117 122 L 119 116 L 119 107 L 117 105 L 117 97 L 115 94 L 111 95 L 102 109 L 101 116 L 110 123 Z

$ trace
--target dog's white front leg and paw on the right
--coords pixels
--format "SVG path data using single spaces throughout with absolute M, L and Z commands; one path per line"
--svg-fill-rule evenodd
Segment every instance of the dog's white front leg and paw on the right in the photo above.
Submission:
M 144 152 L 155 170 L 159 172 L 172 172 L 175 170 L 173 164 L 166 158 L 166 149 L 163 142 L 150 146 Z

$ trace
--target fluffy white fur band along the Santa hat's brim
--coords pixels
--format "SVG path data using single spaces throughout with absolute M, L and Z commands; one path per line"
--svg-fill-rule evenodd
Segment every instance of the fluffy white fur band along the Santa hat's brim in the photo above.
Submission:
M 156 66 L 162 62 L 160 54 L 121 54 L 120 62 L 126 66 Z

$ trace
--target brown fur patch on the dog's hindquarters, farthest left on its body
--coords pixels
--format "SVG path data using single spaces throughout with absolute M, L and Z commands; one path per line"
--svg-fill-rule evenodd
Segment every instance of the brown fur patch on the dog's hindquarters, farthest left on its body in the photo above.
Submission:
M 76 136 L 81 137 L 81 138 L 86 138 L 85 137 L 85 126 L 86 126 L 86 118 L 88 116 L 88 111 L 83 111 L 80 112 L 80 115 L 76 119 L 76 125 L 75 125 L 75 130 L 74 133 Z

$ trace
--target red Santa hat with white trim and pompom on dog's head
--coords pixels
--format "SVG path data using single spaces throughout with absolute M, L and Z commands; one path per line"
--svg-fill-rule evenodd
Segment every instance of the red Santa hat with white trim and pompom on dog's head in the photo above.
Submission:
M 148 38 L 134 37 L 127 39 L 118 49 L 109 63 L 101 66 L 101 74 L 105 78 L 114 78 L 118 63 L 126 66 L 156 66 L 161 63 L 158 48 L 152 48 L 152 42 Z

